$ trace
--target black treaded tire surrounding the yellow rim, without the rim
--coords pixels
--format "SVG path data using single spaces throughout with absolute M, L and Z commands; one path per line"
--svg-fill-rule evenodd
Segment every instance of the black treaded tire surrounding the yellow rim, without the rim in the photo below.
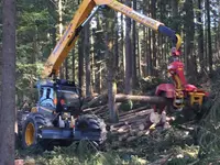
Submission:
M 25 138 L 25 132 L 28 129 L 29 124 L 33 124 L 34 128 L 34 133 L 33 133 L 33 143 L 28 144 L 26 143 L 26 138 Z M 31 148 L 35 147 L 36 145 L 42 145 L 43 140 L 38 139 L 38 133 L 41 132 L 41 128 L 46 125 L 46 120 L 42 113 L 35 112 L 35 113 L 30 113 L 26 117 L 26 120 L 23 123 L 22 127 L 22 147 L 23 148 Z

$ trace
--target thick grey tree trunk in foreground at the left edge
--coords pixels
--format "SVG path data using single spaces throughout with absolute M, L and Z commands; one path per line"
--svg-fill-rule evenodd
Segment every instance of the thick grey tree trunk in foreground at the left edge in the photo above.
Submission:
M 3 0 L 0 105 L 0 164 L 14 164 L 15 123 L 15 0 Z

